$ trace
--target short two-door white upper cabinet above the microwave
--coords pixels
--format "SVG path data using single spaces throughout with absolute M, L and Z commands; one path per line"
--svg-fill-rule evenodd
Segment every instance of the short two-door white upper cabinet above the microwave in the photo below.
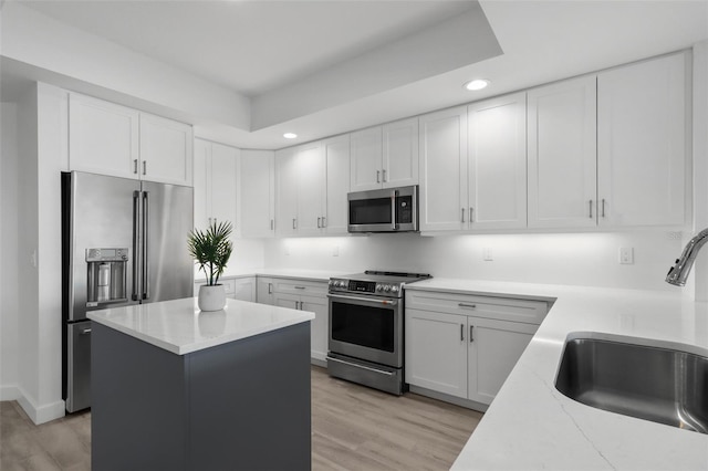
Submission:
M 418 118 L 351 134 L 351 190 L 418 184 Z

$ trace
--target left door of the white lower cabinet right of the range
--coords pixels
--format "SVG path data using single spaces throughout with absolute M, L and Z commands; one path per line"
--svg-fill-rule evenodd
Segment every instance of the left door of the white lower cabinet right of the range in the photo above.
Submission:
M 467 316 L 406 310 L 406 383 L 467 398 Z

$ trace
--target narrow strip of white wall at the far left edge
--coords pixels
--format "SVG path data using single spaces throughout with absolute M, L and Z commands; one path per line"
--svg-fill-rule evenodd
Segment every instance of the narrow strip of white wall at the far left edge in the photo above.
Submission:
M 0 104 L 0 400 L 18 390 L 18 105 Z

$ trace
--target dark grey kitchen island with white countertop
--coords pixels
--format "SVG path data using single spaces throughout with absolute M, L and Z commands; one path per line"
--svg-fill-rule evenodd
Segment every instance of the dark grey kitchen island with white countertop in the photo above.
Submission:
M 93 469 L 310 469 L 313 313 L 185 299 L 88 317 Z

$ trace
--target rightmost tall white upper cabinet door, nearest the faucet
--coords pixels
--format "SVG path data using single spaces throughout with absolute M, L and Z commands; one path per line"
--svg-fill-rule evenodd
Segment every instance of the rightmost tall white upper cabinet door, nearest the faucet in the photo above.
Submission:
M 597 75 L 603 226 L 680 226 L 688 168 L 686 54 Z

